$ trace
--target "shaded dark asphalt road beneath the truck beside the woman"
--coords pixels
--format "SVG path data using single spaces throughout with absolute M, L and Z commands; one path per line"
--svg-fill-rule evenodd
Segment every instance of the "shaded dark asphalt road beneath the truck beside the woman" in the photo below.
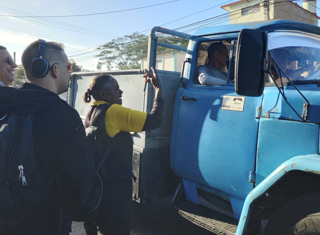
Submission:
M 139 204 L 133 202 L 131 235 L 213 235 L 184 219 L 171 206 L 172 197 Z M 73 222 L 71 235 L 85 235 L 83 223 Z

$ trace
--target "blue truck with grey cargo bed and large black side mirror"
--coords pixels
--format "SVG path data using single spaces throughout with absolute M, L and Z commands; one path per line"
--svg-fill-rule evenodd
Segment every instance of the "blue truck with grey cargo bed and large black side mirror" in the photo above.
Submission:
M 189 39 L 188 48 L 157 42 L 156 32 Z M 228 48 L 227 85 L 205 86 L 197 67 L 207 48 Z M 181 74 L 157 70 L 164 88 L 164 123 L 132 133 L 142 203 L 174 192 L 180 215 L 216 234 L 320 234 L 320 28 L 270 20 L 203 28 L 188 35 L 155 27 L 156 48 L 186 52 Z M 112 74 L 123 105 L 150 111 L 142 69 L 74 73 L 64 98 L 85 116 L 81 96 L 98 74 Z M 128 99 L 126 99 L 128 97 Z

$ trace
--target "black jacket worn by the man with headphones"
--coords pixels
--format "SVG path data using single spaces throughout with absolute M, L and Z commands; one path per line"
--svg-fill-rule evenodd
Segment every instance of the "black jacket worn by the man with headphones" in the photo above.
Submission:
M 0 87 L 0 117 L 6 113 L 33 113 L 36 163 L 45 182 L 60 172 L 62 199 L 77 211 L 88 198 L 95 177 L 84 126 L 75 109 L 47 89 L 25 83 L 19 89 Z M 17 234 L 56 234 L 61 196 L 57 186 L 41 211 L 24 223 Z

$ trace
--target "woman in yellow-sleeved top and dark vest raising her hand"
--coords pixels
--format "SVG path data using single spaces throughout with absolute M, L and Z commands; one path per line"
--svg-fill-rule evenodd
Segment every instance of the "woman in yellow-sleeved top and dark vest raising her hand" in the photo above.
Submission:
M 103 136 L 102 153 L 113 139 L 114 148 L 102 168 L 103 195 L 100 211 L 92 222 L 84 222 L 87 235 L 129 235 L 132 204 L 132 153 L 129 132 L 153 130 L 161 126 L 164 100 L 156 71 L 146 74 L 156 96 L 150 113 L 122 106 L 122 94 L 118 82 L 110 75 L 99 75 L 83 94 L 86 103 L 95 100 L 86 116 L 85 126 L 96 126 Z M 102 128 L 101 128 L 102 127 Z

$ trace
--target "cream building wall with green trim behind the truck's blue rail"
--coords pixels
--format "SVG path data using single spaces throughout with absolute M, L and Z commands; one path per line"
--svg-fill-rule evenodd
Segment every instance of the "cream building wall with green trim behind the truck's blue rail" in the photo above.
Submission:
M 181 72 L 185 56 L 185 53 L 173 52 L 157 55 L 157 60 L 163 59 L 163 70 Z M 141 60 L 141 69 L 145 68 L 147 68 L 147 57 Z

